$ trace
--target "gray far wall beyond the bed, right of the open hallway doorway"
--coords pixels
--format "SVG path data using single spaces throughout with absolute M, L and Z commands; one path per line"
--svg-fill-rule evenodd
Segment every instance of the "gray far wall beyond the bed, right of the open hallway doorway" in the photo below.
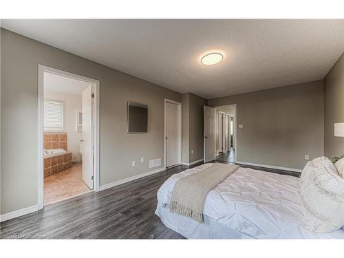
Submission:
M 323 155 L 323 80 L 208 100 L 230 104 L 237 104 L 238 161 L 303 169 L 305 154 Z

